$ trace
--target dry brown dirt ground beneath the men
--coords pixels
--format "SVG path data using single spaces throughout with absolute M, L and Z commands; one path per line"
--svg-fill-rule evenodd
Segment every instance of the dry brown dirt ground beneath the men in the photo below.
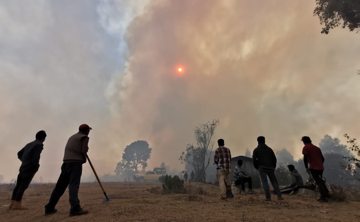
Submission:
M 314 196 L 284 195 L 284 201 L 265 201 L 263 194 L 237 195 L 220 201 L 219 188 L 202 187 L 206 195 L 163 195 L 161 183 L 104 183 L 108 195 L 114 198 L 101 204 L 104 196 L 97 183 L 82 183 L 79 199 L 84 216 L 68 217 L 68 192 L 60 199 L 58 212 L 44 216 L 44 205 L 49 200 L 54 184 L 32 185 L 26 190 L 23 203 L 28 210 L 8 211 L 0 208 L 0 221 L 237 221 L 237 222 L 303 222 L 303 221 L 360 221 L 360 202 L 318 203 Z M 8 205 L 13 187 L 0 186 L 0 206 Z M 192 197 L 192 198 L 190 198 Z

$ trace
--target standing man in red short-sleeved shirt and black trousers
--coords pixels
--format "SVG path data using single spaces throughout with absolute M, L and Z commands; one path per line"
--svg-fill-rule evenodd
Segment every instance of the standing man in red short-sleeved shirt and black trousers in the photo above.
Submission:
M 310 137 L 302 137 L 301 141 L 305 145 L 304 148 L 302 148 L 302 154 L 304 155 L 306 172 L 311 173 L 316 185 L 319 186 L 321 197 L 316 200 L 319 202 L 328 202 L 327 198 L 329 197 L 329 190 L 323 180 L 325 161 L 323 153 L 319 147 L 311 143 Z M 310 167 L 308 167 L 308 163 L 310 164 Z

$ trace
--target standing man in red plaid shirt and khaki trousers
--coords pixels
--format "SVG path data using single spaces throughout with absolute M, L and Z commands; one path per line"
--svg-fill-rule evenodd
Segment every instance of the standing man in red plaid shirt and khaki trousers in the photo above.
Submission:
M 226 186 L 228 189 L 231 189 L 230 182 L 230 163 L 231 163 L 231 153 L 229 148 L 226 148 L 224 145 L 224 139 L 219 139 L 217 141 L 219 148 L 215 150 L 214 163 L 217 164 L 217 177 L 220 186 L 221 197 L 220 200 L 226 200 Z M 225 181 L 226 184 L 225 184 Z

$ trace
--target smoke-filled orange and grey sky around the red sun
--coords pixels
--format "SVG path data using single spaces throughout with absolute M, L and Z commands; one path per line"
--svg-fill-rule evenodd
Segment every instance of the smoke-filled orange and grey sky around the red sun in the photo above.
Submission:
M 301 136 L 360 137 L 360 35 L 320 34 L 314 0 L 0 0 L 0 174 L 48 134 L 35 180 L 55 181 L 87 123 L 89 157 L 112 173 L 147 140 L 149 169 L 178 160 L 194 127 L 243 155 L 265 136 L 301 157 Z M 178 75 L 177 67 L 184 72 Z M 88 164 L 83 175 L 91 175 Z

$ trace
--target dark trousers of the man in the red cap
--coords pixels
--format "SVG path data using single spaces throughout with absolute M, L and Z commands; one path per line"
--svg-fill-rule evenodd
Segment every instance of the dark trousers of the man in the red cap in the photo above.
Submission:
M 80 210 L 80 200 L 77 197 L 77 193 L 79 192 L 81 174 L 82 163 L 63 163 L 58 182 L 50 196 L 49 203 L 45 205 L 45 212 L 50 212 L 55 208 L 68 186 L 69 202 L 71 205 L 70 212 Z

